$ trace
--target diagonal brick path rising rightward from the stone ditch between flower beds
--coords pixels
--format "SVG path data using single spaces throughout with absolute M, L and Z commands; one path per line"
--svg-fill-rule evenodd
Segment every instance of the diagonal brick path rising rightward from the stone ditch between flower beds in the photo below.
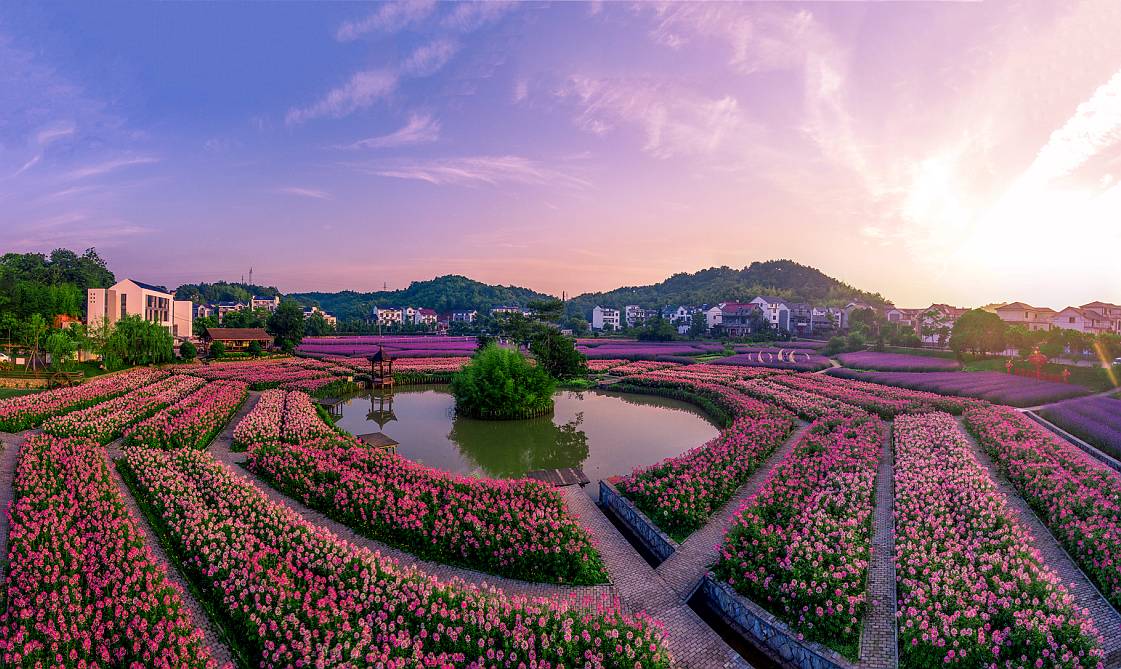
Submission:
M 771 471 L 790 455 L 795 444 L 802 438 L 803 433 L 809 428 L 808 422 L 798 421 L 798 429 L 790 435 L 787 440 L 775 449 L 748 481 L 740 486 L 735 495 L 724 504 L 720 511 L 713 514 L 700 530 L 689 535 L 685 542 L 674 551 L 664 563 L 658 565 L 657 573 L 666 583 L 674 588 L 683 600 L 688 598 L 696 589 L 705 573 L 708 572 L 720 557 L 720 543 L 732 527 L 735 514 L 751 495 L 759 491 L 759 487 L 770 476 Z

